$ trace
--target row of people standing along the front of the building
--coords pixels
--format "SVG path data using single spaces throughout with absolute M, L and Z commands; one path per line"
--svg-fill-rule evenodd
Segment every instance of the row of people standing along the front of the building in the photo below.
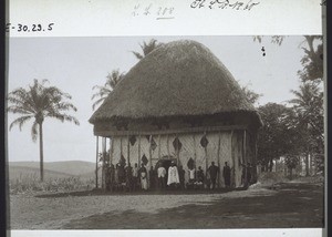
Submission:
M 147 190 L 147 189 L 193 189 L 193 188 L 210 188 L 215 189 L 219 176 L 219 167 L 211 162 L 206 174 L 201 166 L 196 171 L 194 167 L 188 168 L 188 182 L 185 183 L 186 171 L 181 165 L 176 166 L 174 162 L 166 171 L 166 167 L 158 165 L 151 166 L 147 171 L 144 164 L 138 168 L 137 163 L 132 167 L 131 163 L 105 165 L 105 188 L 107 190 Z M 247 174 L 248 175 L 248 174 Z M 227 188 L 230 187 L 231 168 L 225 162 L 222 168 L 224 183 Z

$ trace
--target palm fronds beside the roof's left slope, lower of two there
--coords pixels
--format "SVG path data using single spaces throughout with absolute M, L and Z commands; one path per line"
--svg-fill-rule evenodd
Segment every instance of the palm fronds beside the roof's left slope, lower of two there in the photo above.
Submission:
M 94 95 L 92 95 L 91 100 L 98 97 L 92 105 L 92 110 L 95 110 L 97 105 L 100 105 L 104 100 L 108 96 L 108 94 L 115 89 L 117 83 L 123 79 L 124 73 L 120 73 L 120 70 L 113 70 L 106 76 L 107 81 L 104 86 L 95 85 L 92 90 L 98 90 Z

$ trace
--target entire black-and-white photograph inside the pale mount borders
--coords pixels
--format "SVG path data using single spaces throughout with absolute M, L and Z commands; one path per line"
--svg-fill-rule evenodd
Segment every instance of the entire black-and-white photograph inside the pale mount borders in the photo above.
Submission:
M 10 228 L 324 228 L 323 59 L 322 35 L 10 39 Z

